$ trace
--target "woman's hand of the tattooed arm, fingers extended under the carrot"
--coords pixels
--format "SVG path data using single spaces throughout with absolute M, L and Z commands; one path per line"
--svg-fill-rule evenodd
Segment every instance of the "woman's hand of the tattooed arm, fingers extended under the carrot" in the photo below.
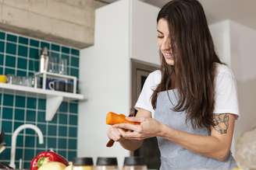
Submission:
M 130 123 L 120 123 L 113 125 L 113 127 L 122 128 L 119 130 L 123 138 L 128 140 L 144 140 L 148 137 L 160 136 L 162 132 L 162 123 L 159 123 L 153 118 L 145 117 L 126 117 L 126 120 L 132 122 L 139 122 L 140 124 L 134 125 Z

